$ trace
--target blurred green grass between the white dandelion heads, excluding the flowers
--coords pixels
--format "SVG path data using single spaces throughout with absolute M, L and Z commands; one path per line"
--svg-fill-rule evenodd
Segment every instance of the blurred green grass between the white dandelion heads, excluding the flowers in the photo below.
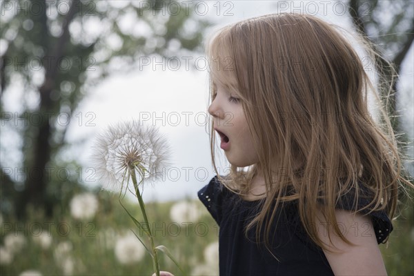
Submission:
M 175 222 L 170 219 L 170 209 L 177 202 L 147 204 L 148 217 L 155 235 L 155 244 L 169 248 L 184 270 L 184 275 L 194 275 L 199 270 L 206 275 L 217 275 L 218 259 L 214 264 L 206 264 L 204 249 L 218 240 L 217 224 L 198 201 L 192 201 L 199 210 L 199 218 L 190 223 Z M 138 204 L 124 201 L 139 221 L 142 221 Z M 3 217 L 1 224 L 0 244 L 4 246 L 6 235 L 17 233 L 26 243 L 14 253 L 13 262 L 0 265 L 0 275 L 19 275 L 24 270 L 37 270 L 42 275 L 64 275 L 72 263 L 73 275 L 152 275 L 152 260 L 148 253 L 134 264 L 120 264 L 115 257 L 114 246 L 119 235 L 137 229 L 121 208 L 117 197 L 109 197 L 105 192 L 99 193 L 99 210 L 94 219 L 79 221 L 73 219 L 68 208 L 57 210 L 61 214 L 50 221 L 43 215 L 32 212 L 25 223 L 17 223 L 12 218 Z M 41 248 L 32 239 L 32 235 L 50 230 L 52 244 L 49 248 Z M 412 259 L 414 257 L 414 227 L 412 206 L 404 210 L 398 221 L 394 222 L 394 231 L 386 244 L 380 246 L 389 275 L 414 275 Z M 70 244 L 72 248 L 60 259 L 56 250 L 62 244 Z M 1 258 L 1 256 L 0 256 Z M 61 260 L 64 261 L 61 261 Z M 66 264 L 62 264 L 66 262 Z M 183 275 L 170 259 L 160 259 L 161 270 L 168 270 L 175 275 Z M 202 266 L 202 267 L 201 267 Z M 201 269 L 201 268 L 204 268 Z M 201 269 L 201 270 L 200 270 Z

